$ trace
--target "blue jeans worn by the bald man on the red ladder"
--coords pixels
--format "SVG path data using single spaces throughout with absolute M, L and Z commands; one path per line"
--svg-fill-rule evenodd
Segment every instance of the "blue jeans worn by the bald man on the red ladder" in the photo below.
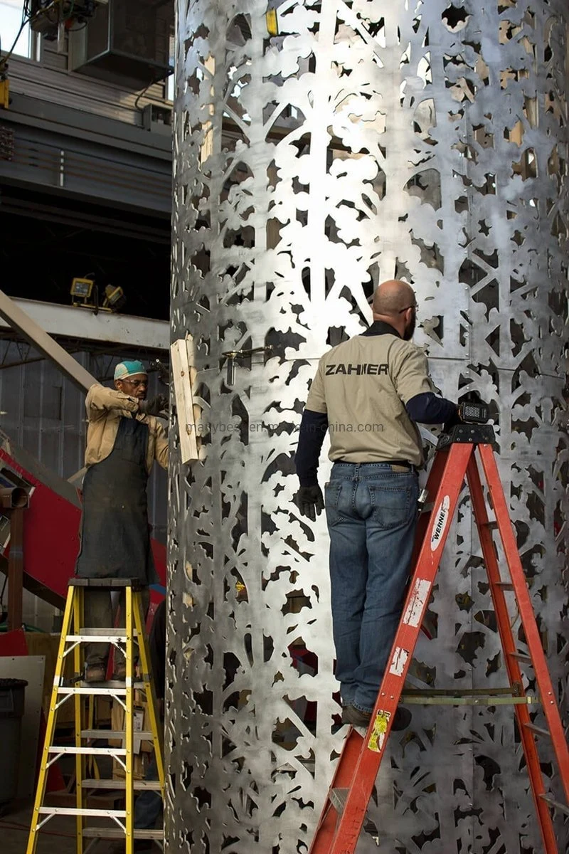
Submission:
M 419 488 L 387 463 L 334 463 L 326 484 L 342 703 L 372 711 L 404 605 Z

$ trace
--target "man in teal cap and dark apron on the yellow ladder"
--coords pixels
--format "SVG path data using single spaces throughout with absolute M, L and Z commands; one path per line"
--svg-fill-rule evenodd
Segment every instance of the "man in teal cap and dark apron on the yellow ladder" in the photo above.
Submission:
M 168 401 L 165 395 L 147 400 L 147 392 L 147 371 L 136 360 L 116 366 L 114 389 L 96 383 L 87 394 L 87 471 L 76 573 L 83 578 L 136 578 L 148 606 L 148 585 L 159 579 L 150 547 L 146 488 L 154 460 L 168 467 L 168 439 L 158 419 Z M 84 607 L 85 625 L 91 629 L 113 625 L 107 590 L 89 590 Z M 107 643 L 86 646 L 87 681 L 104 681 L 108 654 Z M 118 651 L 114 677 L 125 678 L 125 658 Z

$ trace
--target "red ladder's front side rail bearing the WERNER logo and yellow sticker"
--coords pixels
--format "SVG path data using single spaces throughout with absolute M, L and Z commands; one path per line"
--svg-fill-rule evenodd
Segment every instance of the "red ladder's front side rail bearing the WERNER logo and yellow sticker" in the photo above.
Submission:
M 363 749 L 357 760 L 345 807 L 336 828 L 330 854 L 352 854 L 362 830 L 369 798 L 380 769 L 392 719 L 403 691 L 405 677 L 421 631 L 421 623 L 433 590 L 438 564 L 455 515 L 473 445 L 453 444 L 444 449 L 444 470 L 435 494 L 433 512 L 409 594 L 404 604 L 386 672 L 374 705 Z

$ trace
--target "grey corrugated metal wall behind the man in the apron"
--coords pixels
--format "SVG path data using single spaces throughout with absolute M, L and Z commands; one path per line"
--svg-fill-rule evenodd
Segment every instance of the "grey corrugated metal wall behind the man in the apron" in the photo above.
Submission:
M 73 353 L 94 377 L 104 382 L 114 366 L 127 357 L 123 354 Z M 34 360 L 35 361 L 32 361 Z M 26 364 L 12 363 L 26 360 Z M 105 382 L 112 386 L 112 383 Z M 156 374 L 150 374 L 148 394 L 165 392 Z M 0 427 L 20 447 L 32 453 L 60 477 L 71 477 L 84 465 L 86 420 L 84 395 L 75 389 L 61 371 L 48 360 L 40 359 L 26 344 L 0 340 Z M 154 465 L 148 481 L 149 520 L 153 536 L 165 543 L 166 473 Z M 26 595 L 24 622 L 50 630 L 54 609 Z

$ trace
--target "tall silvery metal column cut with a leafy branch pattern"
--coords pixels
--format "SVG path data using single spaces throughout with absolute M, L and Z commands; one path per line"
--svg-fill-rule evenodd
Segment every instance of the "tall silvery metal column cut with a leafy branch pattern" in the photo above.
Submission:
M 444 395 L 491 403 L 567 720 L 569 8 L 192 0 L 177 18 L 172 340 L 194 338 L 202 459 L 180 465 L 173 422 L 168 850 L 293 854 L 344 734 L 326 525 L 299 517 L 293 454 L 317 359 L 386 278 L 414 284 Z M 412 684 L 506 684 L 466 492 L 428 633 Z M 508 707 L 414 706 L 390 751 L 379 843 L 358 851 L 540 851 Z

